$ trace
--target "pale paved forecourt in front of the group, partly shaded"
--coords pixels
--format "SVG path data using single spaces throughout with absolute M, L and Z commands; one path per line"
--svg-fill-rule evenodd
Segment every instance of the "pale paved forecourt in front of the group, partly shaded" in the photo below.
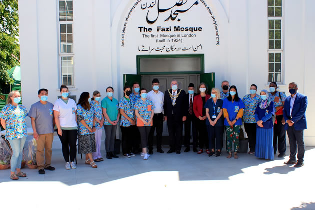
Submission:
M 284 165 L 288 157 L 227 159 L 226 152 L 208 157 L 163 149 L 148 161 L 105 158 L 97 169 L 78 156 L 76 170 L 64 169 L 54 149 L 56 170 L 45 175 L 25 168 L 27 178 L 11 181 L 9 170 L 0 170 L 0 209 L 315 209 L 315 148 L 307 148 L 302 168 Z

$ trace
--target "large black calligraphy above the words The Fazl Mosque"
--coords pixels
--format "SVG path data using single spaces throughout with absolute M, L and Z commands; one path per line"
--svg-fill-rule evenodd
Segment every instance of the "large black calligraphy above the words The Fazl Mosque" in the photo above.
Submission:
M 157 0 L 157 16 L 155 19 L 150 19 L 149 18 L 149 13 L 150 13 L 150 8 L 153 8 L 155 5 L 156 5 L 156 0 L 152 1 L 152 3 L 148 4 L 147 2 L 146 3 L 142 3 L 141 5 L 141 9 L 142 10 L 145 10 L 145 9 L 149 9 L 147 11 L 147 14 L 146 14 L 146 22 L 149 23 L 149 24 L 154 24 L 156 22 L 156 20 L 158 19 L 159 17 L 159 13 L 163 13 L 163 12 L 166 12 L 166 11 L 170 11 L 170 15 L 169 17 L 167 17 L 164 22 L 168 21 L 169 19 L 171 19 L 172 21 L 176 20 L 177 16 L 179 13 L 184 13 L 186 11 L 188 11 L 189 9 L 191 9 L 192 6 L 194 5 L 198 5 L 199 2 L 198 1 L 195 1 L 189 8 L 186 8 L 186 9 L 178 9 L 178 7 L 180 6 L 183 6 L 184 4 L 187 3 L 188 0 L 178 0 L 178 2 L 175 3 L 175 5 L 173 5 L 172 7 L 170 8 L 160 8 L 159 7 L 159 0 Z M 180 19 L 178 18 L 177 21 L 180 21 Z

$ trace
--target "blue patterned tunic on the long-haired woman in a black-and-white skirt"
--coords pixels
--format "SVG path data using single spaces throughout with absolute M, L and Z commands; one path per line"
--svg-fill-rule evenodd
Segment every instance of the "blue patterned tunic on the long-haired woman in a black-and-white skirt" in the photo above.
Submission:
M 94 115 L 95 115 L 95 111 L 94 111 L 93 107 L 91 107 L 90 110 L 85 110 L 81 106 L 81 104 L 79 104 L 79 105 L 77 105 L 76 114 L 83 116 L 86 124 L 92 129 Z M 87 135 L 87 134 L 93 134 L 94 133 L 94 132 L 90 132 L 81 122 L 78 122 L 78 129 L 79 129 L 80 135 Z

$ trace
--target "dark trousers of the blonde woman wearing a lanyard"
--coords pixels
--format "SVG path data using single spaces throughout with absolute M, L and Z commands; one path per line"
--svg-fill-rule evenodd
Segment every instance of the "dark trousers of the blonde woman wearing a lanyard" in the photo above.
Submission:
M 207 125 L 209 149 L 222 149 L 224 126 Z M 221 150 L 222 151 L 222 150 Z

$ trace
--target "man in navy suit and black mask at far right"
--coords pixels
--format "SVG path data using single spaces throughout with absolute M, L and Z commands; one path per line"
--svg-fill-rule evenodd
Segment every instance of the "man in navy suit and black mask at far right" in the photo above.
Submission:
M 302 167 L 304 165 L 304 139 L 303 132 L 307 129 L 306 123 L 306 108 L 307 96 L 297 92 L 297 83 L 289 84 L 289 92 L 291 93 L 285 99 L 283 117 L 285 120 L 285 129 L 289 137 L 290 143 L 290 159 L 284 164 L 295 164 L 294 167 Z M 298 154 L 296 162 L 296 144 Z

